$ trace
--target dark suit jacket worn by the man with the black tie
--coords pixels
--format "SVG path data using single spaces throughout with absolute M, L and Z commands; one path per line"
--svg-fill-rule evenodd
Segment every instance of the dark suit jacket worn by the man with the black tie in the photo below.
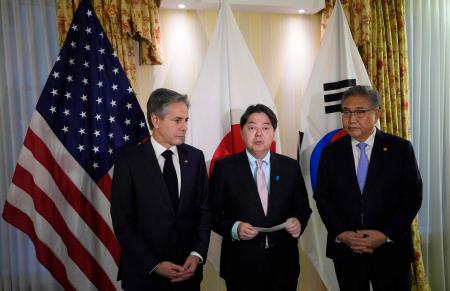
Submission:
M 206 260 L 210 237 L 208 180 L 203 153 L 177 147 L 181 170 L 178 211 L 150 141 L 120 153 L 112 181 L 111 216 L 122 247 L 119 279 L 127 290 L 165 290 L 169 281 L 155 272 L 161 261 L 183 265 L 191 251 Z M 199 265 L 192 280 L 201 281 Z

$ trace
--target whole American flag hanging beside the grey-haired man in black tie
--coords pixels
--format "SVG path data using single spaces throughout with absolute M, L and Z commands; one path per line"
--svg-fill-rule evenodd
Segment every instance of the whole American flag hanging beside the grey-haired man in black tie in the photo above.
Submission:
M 117 55 L 90 1 L 82 1 L 36 105 L 3 210 L 64 289 L 119 289 L 110 215 L 114 156 L 148 137 Z

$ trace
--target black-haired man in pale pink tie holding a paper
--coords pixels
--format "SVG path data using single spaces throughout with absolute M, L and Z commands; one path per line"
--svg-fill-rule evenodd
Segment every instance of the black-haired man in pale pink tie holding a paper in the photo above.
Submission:
M 246 150 L 215 163 L 210 177 L 213 230 L 223 237 L 220 275 L 230 291 L 294 291 L 298 238 L 311 214 L 298 162 L 270 152 L 277 118 L 247 108 L 240 120 Z M 283 229 L 256 227 L 285 223 Z

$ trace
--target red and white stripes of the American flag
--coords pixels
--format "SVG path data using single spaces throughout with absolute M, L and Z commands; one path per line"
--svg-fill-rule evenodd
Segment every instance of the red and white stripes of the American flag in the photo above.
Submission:
M 66 290 L 120 289 L 110 173 L 93 181 L 34 113 L 3 217 L 32 239 L 38 260 Z

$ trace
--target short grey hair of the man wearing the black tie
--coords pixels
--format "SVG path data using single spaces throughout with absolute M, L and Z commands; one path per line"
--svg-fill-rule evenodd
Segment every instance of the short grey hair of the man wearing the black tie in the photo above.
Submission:
M 150 94 L 147 101 L 147 120 L 150 125 L 150 129 L 153 129 L 151 120 L 152 113 L 156 114 L 160 118 L 164 118 L 169 104 L 175 102 L 183 102 L 189 108 L 187 95 L 180 94 L 176 91 L 166 88 L 159 88 Z

